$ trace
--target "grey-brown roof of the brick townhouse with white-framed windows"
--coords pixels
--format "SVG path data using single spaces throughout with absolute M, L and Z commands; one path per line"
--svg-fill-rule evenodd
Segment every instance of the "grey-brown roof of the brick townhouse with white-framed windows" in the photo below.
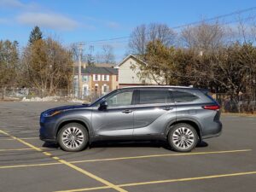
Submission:
M 75 73 L 79 73 L 79 67 L 75 67 Z M 113 67 L 82 67 L 82 74 L 110 74 L 118 75 L 118 69 Z

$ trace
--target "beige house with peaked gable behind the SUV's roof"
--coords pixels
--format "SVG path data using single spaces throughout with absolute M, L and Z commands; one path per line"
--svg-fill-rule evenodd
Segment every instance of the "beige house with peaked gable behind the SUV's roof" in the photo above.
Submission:
M 119 88 L 125 86 L 135 86 L 135 85 L 146 85 L 146 84 L 157 84 L 152 77 L 139 77 L 140 69 L 138 63 L 144 61 L 137 58 L 135 55 L 128 55 L 123 61 L 119 63 L 116 67 L 119 69 Z

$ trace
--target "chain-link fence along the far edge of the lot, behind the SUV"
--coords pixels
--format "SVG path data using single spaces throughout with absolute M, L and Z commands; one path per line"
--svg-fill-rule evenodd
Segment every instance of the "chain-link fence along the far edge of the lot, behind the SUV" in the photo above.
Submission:
M 102 96 L 99 92 L 78 92 L 77 90 L 55 90 L 54 94 L 49 90 L 32 88 L 2 88 L 0 99 L 3 101 L 24 102 L 93 102 Z M 226 113 L 256 113 L 256 94 L 241 94 L 236 98 L 226 93 L 212 94 L 212 97 L 221 105 Z

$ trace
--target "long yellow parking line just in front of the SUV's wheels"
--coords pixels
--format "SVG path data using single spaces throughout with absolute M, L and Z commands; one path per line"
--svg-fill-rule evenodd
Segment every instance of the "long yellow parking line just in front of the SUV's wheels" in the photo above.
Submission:
M 186 153 L 186 154 L 152 154 L 152 155 L 143 155 L 143 156 L 132 156 L 132 157 L 118 157 L 118 158 L 109 158 L 109 159 L 95 159 L 95 160 L 74 160 L 69 161 L 72 164 L 79 163 L 89 163 L 89 162 L 98 162 L 98 161 L 111 161 L 111 160 L 133 160 L 133 159 L 143 159 L 143 158 L 154 158 L 154 157 L 166 157 L 166 156 L 183 156 L 183 155 L 200 155 L 200 154 L 228 154 L 228 153 L 241 153 L 248 152 L 252 149 L 241 149 L 241 150 L 230 150 L 230 151 L 206 151 L 206 152 L 195 152 L 195 153 Z M 49 155 L 49 154 L 48 154 Z M 50 156 L 50 155 L 49 155 Z M 55 157 L 52 157 L 55 159 Z M 0 169 L 6 168 L 19 168 L 19 167 L 29 167 L 29 166 L 52 166 L 61 163 L 44 163 L 44 164 L 26 164 L 26 165 L 14 165 L 14 166 L 0 166 Z

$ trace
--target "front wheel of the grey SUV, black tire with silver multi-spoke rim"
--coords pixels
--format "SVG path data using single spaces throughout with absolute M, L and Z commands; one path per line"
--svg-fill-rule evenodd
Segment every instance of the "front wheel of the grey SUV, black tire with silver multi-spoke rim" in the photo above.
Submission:
M 57 141 L 64 151 L 77 152 L 87 146 L 89 134 L 83 125 L 69 123 L 58 132 Z

